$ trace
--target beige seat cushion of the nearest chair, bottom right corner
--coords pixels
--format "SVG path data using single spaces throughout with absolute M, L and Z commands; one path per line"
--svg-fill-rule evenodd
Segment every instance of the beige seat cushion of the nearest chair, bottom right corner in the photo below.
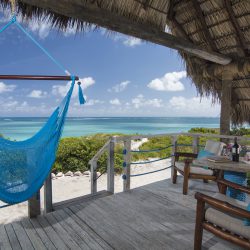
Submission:
M 244 226 L 242 220 L 240 219 L 220 212 L 214 208 L 208 208 L 206 210 L 205 219 L 217 226 L 250 240 L 250 227 Z

